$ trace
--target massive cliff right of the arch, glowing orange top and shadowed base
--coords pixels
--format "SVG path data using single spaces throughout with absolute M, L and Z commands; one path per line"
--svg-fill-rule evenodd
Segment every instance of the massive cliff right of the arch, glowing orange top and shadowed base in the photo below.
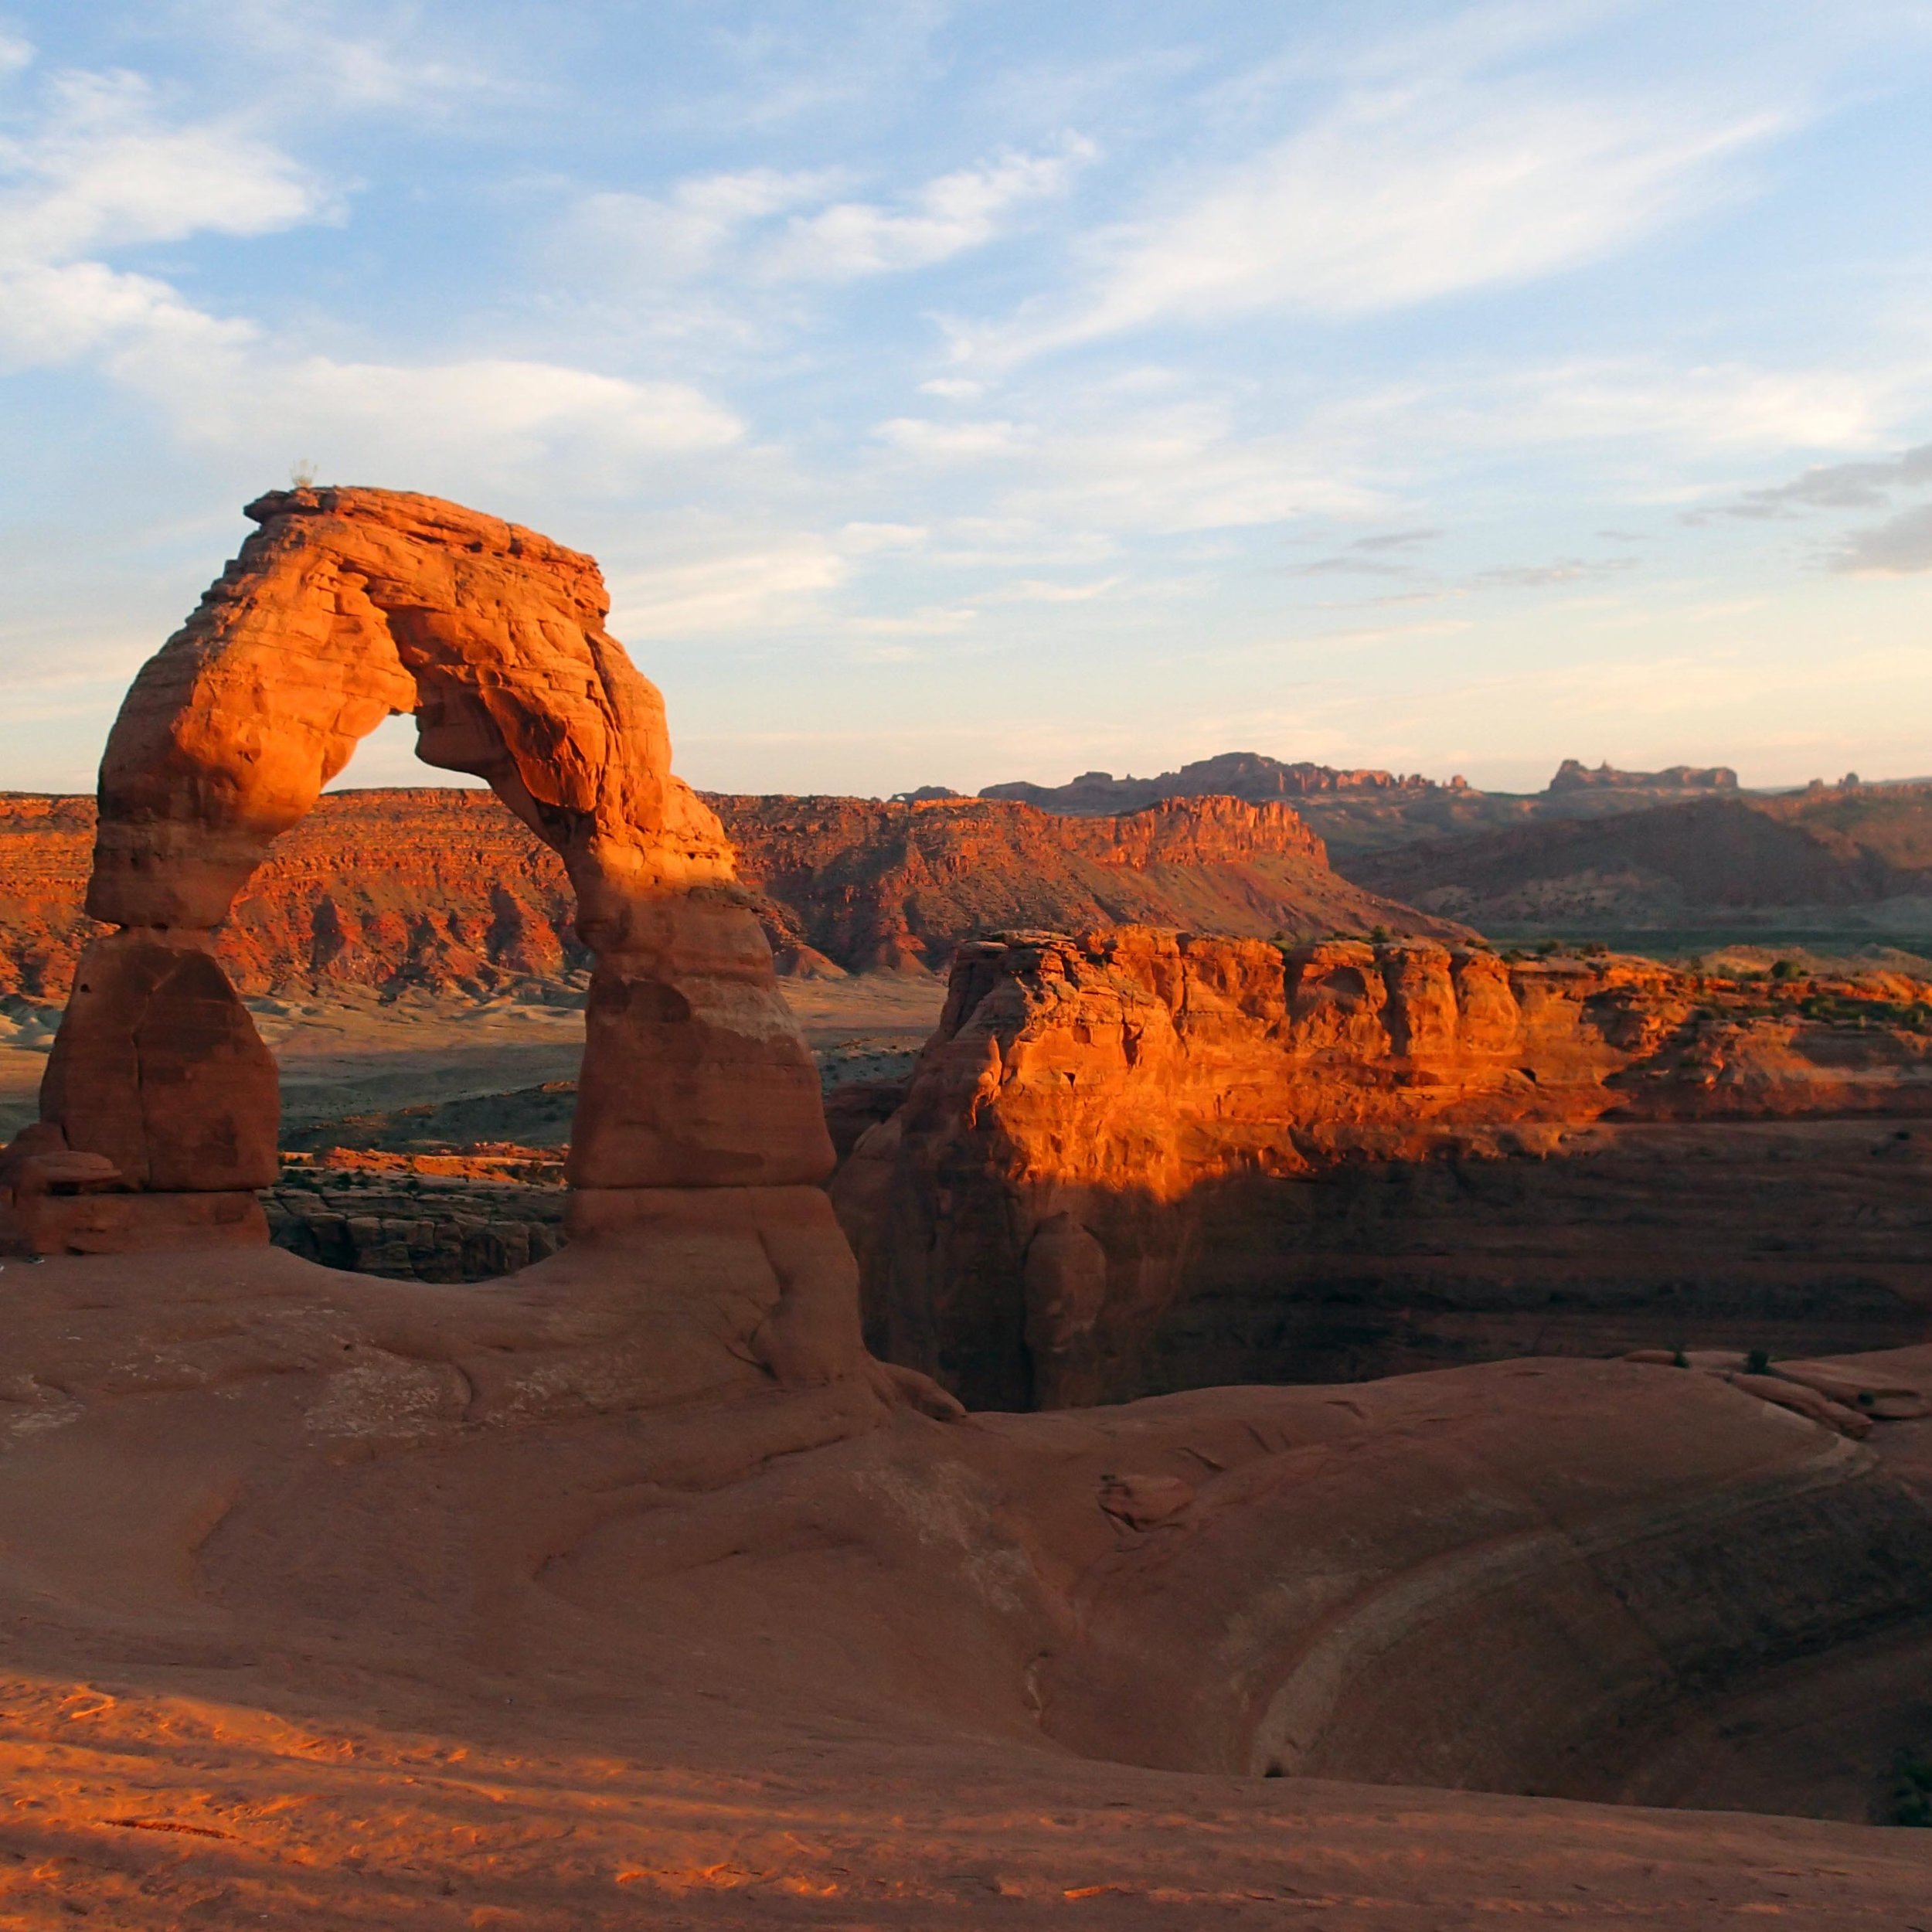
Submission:
M 1578 1182 L 1590 1161 L 1497 1157 L 1551 1155 L 1607 1121 L 1683 1132 L 1665 1122 L 1918 1111 L 1932 1111 L 1932 995 L 1911 981 L 1774 999 L 1627 958 L 1036 933 L 960 951 L 904 1107 L 858 1142 L 835 1198 L 877 1347 L 974 1403 L 1094 1403 L 1534 1352 L 1524 1310 L 1548 1327 L 1565 1294 L 1607 1310 L 1602 1333 L 1571 1337 L 1582 1350 L 1735 1321 L 1752 1279 L 1762 1318 L 1793 1291 L 1803 1302 L 1804 1281 L 1719 1269 L 1700 1312 L 1689 1250 L 1660 1258 L 1654 1231 L 1604 1240 L 1619 1215 L 1700 1227 L 1710 1200 L 1681 1192 L 1683 1151 L 1646 1175 L 1615 1155 L 1596 1196 Z M 1864 1155 L 1853 1186 L 1880 1198 L 1859 1206 L 1895 1215 L 1897 1165 Z M 1762 1161 L 1747 1167 L 1712 1182 L 1735 1209 L 1723 1240 L 1743 1248 L 1764 1179 Z M 1499 1198 L 1522 1196 L 1526 1171 L 1528 1198 Z M 1816 1235 L 1822 1198 L 1806 1206 L 1801 1177 L 1783 1179 L 1785 1213 Z M 1905 1258 L 1905 1275 L 1866 1293 L 1839 1269 L 1839 1312 L 1857 1304 L 1839 1347 L 1922 1333 L 1922 1242 L 1888 1233 L 1880 1265 Z M 1816 1258 L 1828 1277 L 1849 1252 L 1833 1238 L 1835 1260 Z M 1455 1262 L 1484 1240 L 1486 1256 Z M 1434 1275 L 1416 1262 L 1432 1248 Z M 1671 1281 L 1683 1296 L 1658 1320 L 1679 1329 L 1633 1329 L 1633 1306 Z M 1403 1354 L 1418 1310 L 1445 1302 L 1472 1320 L 1447 1323 L 1441 1350 Z

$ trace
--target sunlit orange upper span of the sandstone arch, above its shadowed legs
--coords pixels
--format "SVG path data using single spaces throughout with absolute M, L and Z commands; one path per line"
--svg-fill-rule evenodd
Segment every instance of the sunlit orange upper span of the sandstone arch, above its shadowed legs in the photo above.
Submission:
M 723 885 L 717 817 L 670 771 L 665 701 L 605 630 L 593 558 L 435 497 L 274 491 L 137 674 L 100 763 L 87 910 L 209 931 L 384 717 L 562 856 L 589 945 L 632 900 Z

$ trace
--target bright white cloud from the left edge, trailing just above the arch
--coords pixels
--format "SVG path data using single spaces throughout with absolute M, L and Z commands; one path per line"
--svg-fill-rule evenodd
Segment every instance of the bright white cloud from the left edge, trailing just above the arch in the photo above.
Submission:
M 717 450 L 738 417 L 686 383 L 535 357 L 348 361 L 118 269 L 118 249 L 253 238 L 330 220 L 332 187 L 228 116 L 170 122 L 126 73 L 56 73 L 0 139 L 0 367 L 95 357 L 184 442 L 269 464 L 311 450 L 336 475 L 498 483 L 541 464 Z

